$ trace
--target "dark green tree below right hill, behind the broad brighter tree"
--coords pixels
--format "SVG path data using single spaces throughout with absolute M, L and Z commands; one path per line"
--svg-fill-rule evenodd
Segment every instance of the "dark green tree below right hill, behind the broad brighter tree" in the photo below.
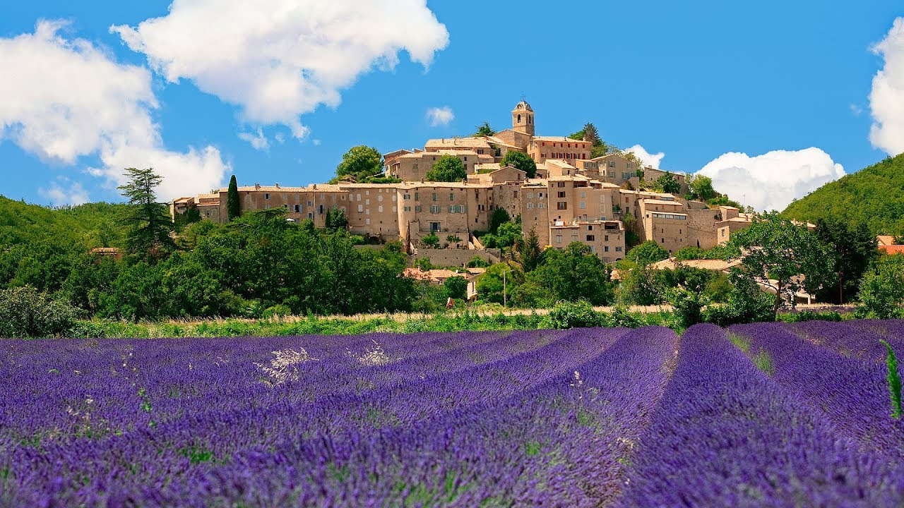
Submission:
M 852 224 L 834 219 L 816 220 L 816 238 L 833 252 L 833 268 L 826 273 L 822 286 L 816 291 L 820 302 L 839 302 L 839 289 L 845 302 L 857 296 L 861 279 L 873 260 L 879 258 L 876 237 L 866 224 Z M 840 284 L 839 284 L 840 283 Z M 841 287 L 839 287 L 841 286 Z

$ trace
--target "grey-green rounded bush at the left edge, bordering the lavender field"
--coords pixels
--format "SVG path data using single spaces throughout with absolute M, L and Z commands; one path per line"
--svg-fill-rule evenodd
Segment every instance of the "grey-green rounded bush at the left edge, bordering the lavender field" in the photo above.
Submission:
M 77 317 L 74 307 L 33 287 L 0 289 L 0 337 L 60 336 Z

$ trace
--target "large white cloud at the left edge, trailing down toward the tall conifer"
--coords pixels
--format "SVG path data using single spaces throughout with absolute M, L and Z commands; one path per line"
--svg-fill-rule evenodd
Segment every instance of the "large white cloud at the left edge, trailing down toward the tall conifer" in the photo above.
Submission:
M 0 38 L 0 140 L 64 165 L 98 155 L 102 166 L 89 174 L 113 184 L 123 182 L 125 167 L 154 167 L 164 176 L 161 199 L 220 184 L 228 166 L 216 148 L 177 153 L 163 146 L 151 117 L 158 107 L 151 73 L 113 61 L 91 42 L 61 37 L 64 25 L 42 20 L 34 33 Z M 45 191 L 54 201 L 58 187 Z

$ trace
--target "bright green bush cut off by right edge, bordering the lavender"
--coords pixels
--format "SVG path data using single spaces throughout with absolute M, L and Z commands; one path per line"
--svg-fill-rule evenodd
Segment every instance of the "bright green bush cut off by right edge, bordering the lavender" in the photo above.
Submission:
M 904 303 L 904 255 L 882 256 L 867 270 L 860 284 L 862 315 L 888 319 L 901 314 Z

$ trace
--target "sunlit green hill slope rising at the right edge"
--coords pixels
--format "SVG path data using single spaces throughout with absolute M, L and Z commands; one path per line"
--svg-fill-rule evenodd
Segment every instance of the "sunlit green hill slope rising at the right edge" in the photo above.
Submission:
M 904 232 L 904 154 L 826 183 L 782 212 L 815 221 L 835 218 L 867 224 L 872 234 Z

